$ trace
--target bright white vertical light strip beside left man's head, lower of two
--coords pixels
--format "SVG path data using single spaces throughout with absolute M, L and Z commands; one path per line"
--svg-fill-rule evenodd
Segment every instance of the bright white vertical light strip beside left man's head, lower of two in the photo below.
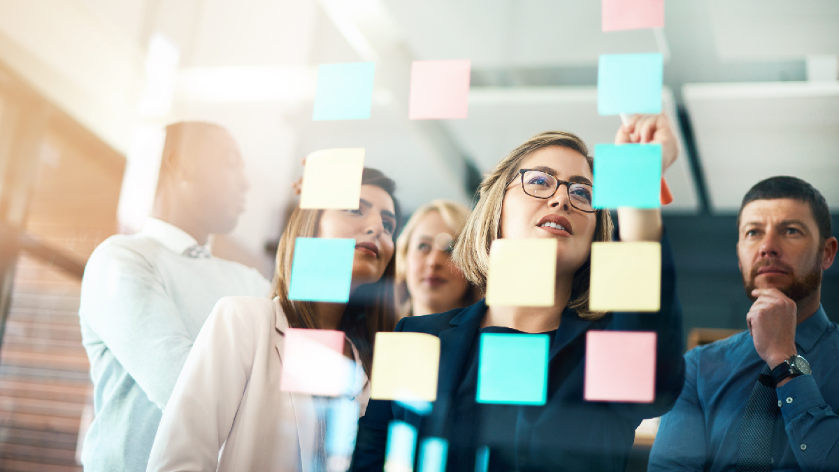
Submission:
M 165 139 L 166 130 L 158 126 L 133 132 L 117 206 L 120 227 L 129 233 L 142 229 L 152 213 Z

